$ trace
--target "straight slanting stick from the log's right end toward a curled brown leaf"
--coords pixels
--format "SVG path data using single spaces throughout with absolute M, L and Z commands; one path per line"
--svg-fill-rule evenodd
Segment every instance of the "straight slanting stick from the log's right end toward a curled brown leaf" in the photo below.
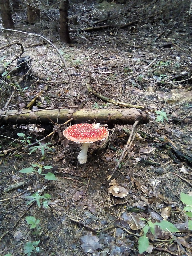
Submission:
M 112 176 L 114 175 L 114 173 L 115 173 L 116 170 L 118 169 L 119 164 L 121 163 L 121 161 L 123 160 L 123 158 L 127 155 L 128 150 L 131 148 L 132 142 L 133 142 L 133 140 L 134 140 L 134 138 L 135 138 L 135 136 L 136 136 L 136 134 L 137 134 L 137 131 L 138 131 L 139 127 L 140 127 L 140 125 L 138 125 L 138 123 L 139 123 L 139 121 L 135 121 L 135 123 L 133 124 L 132 131 L 131 131 L 131 133 L 130 133 L 129 139 L 128 139 L 128 141 L 127 141 L 125 147 L 124 147 L 124 150 L 123 150 L 123 152 L 122 152 L 122 154 L 121 154 L 121 156 L 120 156 L 120 158 L 119 158 L 118 163 L 116 164 L 115 169 L 113 170 L 112 174 L 108 177 L 108 179 L 107 179 L 108 181 L 112 178 Z M 138 126 L 137 126 L 137 125 L 138 125 Z M 136 128 L 136 126 L 137 126 L 137 128 Z M 135 128 L 136 128 L 136 129 L 135 129 Z

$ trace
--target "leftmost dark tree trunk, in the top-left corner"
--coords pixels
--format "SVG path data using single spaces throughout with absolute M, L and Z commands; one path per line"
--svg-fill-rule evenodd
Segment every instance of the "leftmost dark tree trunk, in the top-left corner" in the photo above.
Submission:
M 1 18 L 4 28 L 14 28 L 14 23 L 11 17 L 9 0 L 0 0 Z

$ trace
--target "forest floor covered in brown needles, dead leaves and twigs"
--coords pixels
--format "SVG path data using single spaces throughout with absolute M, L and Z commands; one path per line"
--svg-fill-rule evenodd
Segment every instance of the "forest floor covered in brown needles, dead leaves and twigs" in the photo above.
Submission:
M 107 17 L 98 4 L 88 2 L 90 8 L 86 1 L 76 5 L 76 10 L 83 13 L 79 27 L 95 25 L 95 17 Z M 116 8 L 112 6 L 114 17 L 118 13 L 126 22 L 141 17 L 136 5 L 130 19 L 121 13 L 122 5 Z M 142 249 L 148 238 L 145 255 L 192 255 L 192 235 L 188 230 L 191 219 L 180 200 L 181 192 L 192 196 L 190 16 L 183 14 L 180 22 L 170 19 L 171 15 L 161 21 L 158 17 L 144 17 L 147 22 L 131 27 L 89 33 L 77 33 L 78 27 L 71 26 L 75 28 L 71 36 L 77 42 L 67 45 L 59 42 L 56 32 L 45 29 L 43 22 L 26 25 L 22 15 L 15 14 L 17 28 L 38 33 L 41 25 L 41 34 L 52 40 L 66 60 L 75 106 L 93 110 L 122 108 L 96 98 L 88 90 L 92 87 L 110 99 L 143 106 L 150 122 L 140 126 L 131 149 L 112 177 L 121 186 L 118 189 L 127 191 L 122 198 L 118 193 L 109 193 L 108 176 L 116 167 L 132 125 L 108 127 L 110 140 L 106 148 L 100 150 L 100 142 L 92 144 L 87 163 L 81 165 L 77 161 L 80 145 L 62 135 L 68 124 L 43 140 L 43 146 L 36 144 L 39 147 L 31 153 L 32 148 L 25 146 L 44 138 L 57 124 L 1 124 L 0 255 L 139 255 L 138 239 L 143 239 Z M 1 110 L 5 110 L 14 87 L 6 110 L 26 109 L 40 92 L 32 110 L 71 106 L 69 80 L 58 52 L 37 36 L 0 34 L 0 46 L 14 42 L 22 43 L 22 56 L 30 56 L 38 78 L 21 81 L 8 75 L 6 79 L 2 77 Z M 2 49 L 2 63 L 19 52 L 19 45 Z M 16 61 L 10 68 L 15 66 Z M 136 76 L 119 82 L 133 75 Z M 92 83 L 95 81 L 98 84 Z M 40 149 L 45 146 L 49 148 L 42 152 Z M 36 165 L 36 171 L 42 168 L 42 174 L 51 172 L 56 180 L 45 179 L 40 171 L 19 172 L 31 168 L 31 164 Z M 19 187 L 5 190 L 18 183 Z M 170 232 L 156 225 L 154 232 L 147 230 L 148 238 L 145 237 L 143 228 L 147 223 L 153 226 L 163 221 L 174 224 L 179 231 L 174 232 L 171 226 Z

